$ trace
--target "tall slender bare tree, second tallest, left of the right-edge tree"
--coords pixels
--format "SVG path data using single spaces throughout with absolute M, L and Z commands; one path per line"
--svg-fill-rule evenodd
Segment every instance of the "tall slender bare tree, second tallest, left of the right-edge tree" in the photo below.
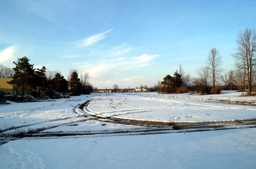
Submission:
M 221 69 L 221 55 L 220 51 L 216 48 L 210 49 L 210 52 L 207 57 L 210 73 L 212 74 L 212 86 L 213 86 L 213 94 L 217 94 L 216 91 L 216 81 L 217 78 L 220 77 Z

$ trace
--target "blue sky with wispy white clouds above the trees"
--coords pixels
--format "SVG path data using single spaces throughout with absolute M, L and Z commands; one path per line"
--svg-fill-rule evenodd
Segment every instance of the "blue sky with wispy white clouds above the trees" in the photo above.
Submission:
M 233 69 L 236 36 L 256 25 L 256 1 L 0 1 L 0 64 L 27 56 L 98 88 L 153 86 L 182 64 L 196 77 L 210 48 Z

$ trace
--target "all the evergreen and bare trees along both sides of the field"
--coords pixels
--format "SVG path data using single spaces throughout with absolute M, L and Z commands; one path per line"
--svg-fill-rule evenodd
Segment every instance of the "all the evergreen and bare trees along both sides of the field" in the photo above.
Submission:
M 246 91 L 251 95 L 256 82 L 256 32 L 254 28 L 246 28 L 243 32 L 237 33 L 237 49 L 232 54 L 236 68 L 224 72 L 222 69 L 222 56 L 217 48 L 209 50 L 205 66 L 196 69 L 196 78 L 186 74 L 183 66 L 175 71 L 174 75 L 169 74 L 158 81 L 153 87 L 141 85 L 139 88 L 146 88 L 148 91 L 158 91 L 164 94 L 183 93 L 194 91 L 201 94 L 218 94 L 221 89 Z M 47 71 L 46 67 L 34 69 L 29 64 L 27 57 L 19 58 L 14 69 L 0 65 L 0 77 L 13 77 L 11 83 L 18 84 L 24 95 L 24 91 L 30 88 L 40 96 L 43 92 L 57 91 L 69 92 L 71 95 L 90 94 L 93 91 L 92 84 L 88 82 L 88 73 L 80 74 L 77 70 L 71 70 L 66 80 L 58 71 Z M 118 85 L 113 86 L 114 89 Z M 129 87 L 130 88 L 130 87 Z

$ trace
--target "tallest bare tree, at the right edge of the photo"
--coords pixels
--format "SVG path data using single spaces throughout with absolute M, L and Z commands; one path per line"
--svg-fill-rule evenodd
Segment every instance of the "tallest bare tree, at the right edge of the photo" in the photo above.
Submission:
M 255 29 L 246 28 L 245 31 L 240 31 L 237 35 L 237 46 L 237 53 L 233 56 L 241 69 L 245 70 L 248 86 L 247 95 L 251 95 L 256 56 Z

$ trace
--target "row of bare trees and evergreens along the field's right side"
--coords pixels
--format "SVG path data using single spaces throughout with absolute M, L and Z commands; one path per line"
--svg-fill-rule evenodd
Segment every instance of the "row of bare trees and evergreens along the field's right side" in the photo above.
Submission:
M 174 93 L 185 92 L 188 90 L 201 92 L 203 94 L 218 94 L 220 84 L 224 84 L 225 90 L 245 91 L 247 86 L 247 95 L 251 95 L 253 84 L 256 81 L 256 31 L 255 29 L 246 28 L 243 32 L 237 34 L 237 51 L 233 54 L 236 61 L 236 70 L 228 70 L 223 74 L 222 56 L 220 51 L 212 48 L 207 56 L 207 64 L 196 69 L 197 78 L 191 78 L 189 74 L 184 73 L 182 65 L 175 72 L 174 77 L 167 75 L 160 83 L 160 92 Z M 172 81 L 179 74 L 183 87 L 173 86 Z M 218 84 L 218 85 L 217 85 Z

